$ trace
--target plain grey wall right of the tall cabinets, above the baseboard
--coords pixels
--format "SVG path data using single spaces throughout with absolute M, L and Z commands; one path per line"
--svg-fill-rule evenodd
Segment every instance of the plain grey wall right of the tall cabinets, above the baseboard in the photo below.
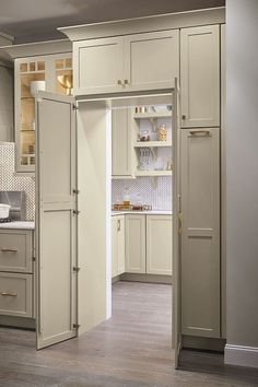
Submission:
M 258 1 L 226 14 L 227 343 L 258 348 Z

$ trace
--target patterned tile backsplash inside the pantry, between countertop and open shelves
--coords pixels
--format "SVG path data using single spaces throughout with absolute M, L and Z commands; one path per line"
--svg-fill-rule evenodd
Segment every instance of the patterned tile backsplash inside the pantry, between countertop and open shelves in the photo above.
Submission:
M 133 204 L 151 204 L 153 210 L 172 211 L 172 178 L 139 177 L 136 179 L 114 179 L 112 181 L 112 203 L 121 203 L 125 195 Z

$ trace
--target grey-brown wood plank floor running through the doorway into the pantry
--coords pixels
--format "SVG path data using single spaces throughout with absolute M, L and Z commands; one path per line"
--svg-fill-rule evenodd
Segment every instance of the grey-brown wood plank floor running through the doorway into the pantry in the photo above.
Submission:
M 186 351 L 188 371 L 174 370 L 171 292 L 116 283 L 110 320 L 38 352 L 34 332 L 0 328 L 0 386 L 257 387 L 257 372 L 225 368 L 221 355 Z

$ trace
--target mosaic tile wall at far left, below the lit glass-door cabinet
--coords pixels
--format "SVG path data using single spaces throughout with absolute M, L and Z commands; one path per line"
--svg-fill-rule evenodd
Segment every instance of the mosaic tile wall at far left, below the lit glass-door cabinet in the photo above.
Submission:
M 26 220 L 31 221 L 35 214 L 35 178 L 15 175 L 14 152 L 13 142 L 0 142 L 0 190 L 24 191 Z

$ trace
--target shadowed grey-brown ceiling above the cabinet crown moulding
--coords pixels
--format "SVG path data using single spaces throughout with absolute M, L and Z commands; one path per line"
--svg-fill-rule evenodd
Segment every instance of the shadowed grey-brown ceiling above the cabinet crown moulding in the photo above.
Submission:
M 63 35 L 56 28 L 225 5 L 225 0 L 0 0 L 0 32 L 15 43 Z

